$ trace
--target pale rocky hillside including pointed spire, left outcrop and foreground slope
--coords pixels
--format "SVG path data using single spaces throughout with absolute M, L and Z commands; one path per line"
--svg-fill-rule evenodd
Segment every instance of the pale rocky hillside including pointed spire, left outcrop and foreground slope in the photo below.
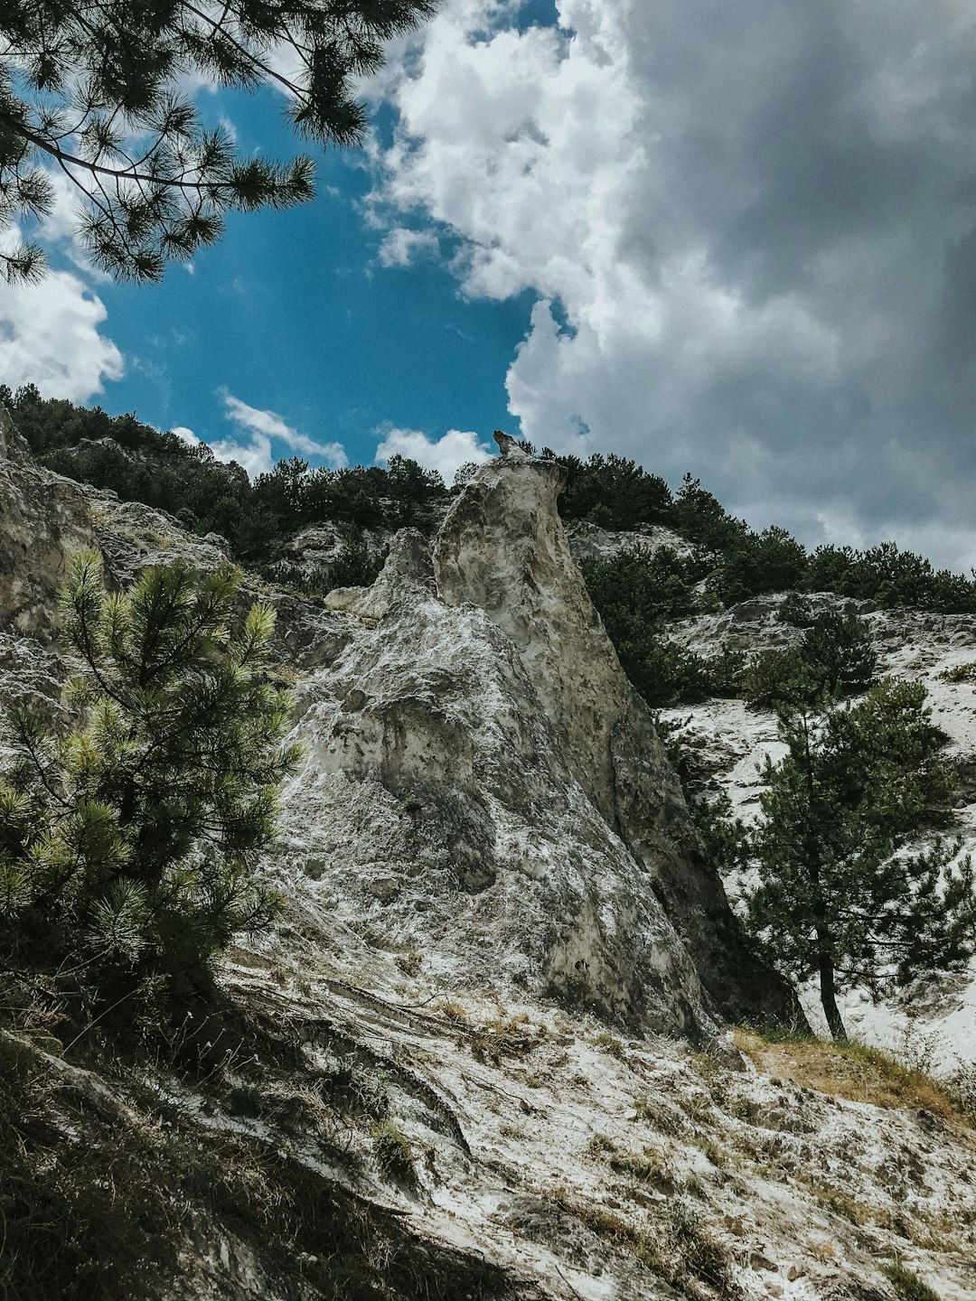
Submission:
M 53 701 L 68 549 L 125 583 L 219 540 L 1 437 L 0 687 Z M 372 588 L 264 589 L 306 745 L 288 915 L 148 1058 L 30 1006 L 0 1033 L 25 1160 L 94 1244 L 35 1296 L 880 1301 L 894 1258 L 976 1294 L 972 1133 L 727 1032 L 791 995 L 696 857 L 558 487 L 493 462 Z

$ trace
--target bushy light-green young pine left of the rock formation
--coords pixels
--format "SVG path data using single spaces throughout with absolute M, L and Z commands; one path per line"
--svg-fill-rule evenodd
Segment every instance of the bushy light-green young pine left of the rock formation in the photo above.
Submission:
M 12 716 L 0 781 L 0 917 L 21 948 L 95 967 L 199 971 L 275 896 L 254 878 L 275 831 L 288 695 L 263 680 L 273 611 L 230 631 L 239 575 L 148 570 L 109 595 L 79 553 L 61 596 L 78 722 Z

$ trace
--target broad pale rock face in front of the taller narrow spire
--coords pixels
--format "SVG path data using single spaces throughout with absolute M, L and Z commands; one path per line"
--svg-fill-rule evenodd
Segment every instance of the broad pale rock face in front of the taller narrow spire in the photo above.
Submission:
M 698 1037 L 698 973 L 566 765 L 511 639 L 474 605 L 445 606 L 422 569 L 362 606 L 358 635 L 301 690 L 289 876 L 311 872 L 319 909 L 455 985 L 558 991 Z

